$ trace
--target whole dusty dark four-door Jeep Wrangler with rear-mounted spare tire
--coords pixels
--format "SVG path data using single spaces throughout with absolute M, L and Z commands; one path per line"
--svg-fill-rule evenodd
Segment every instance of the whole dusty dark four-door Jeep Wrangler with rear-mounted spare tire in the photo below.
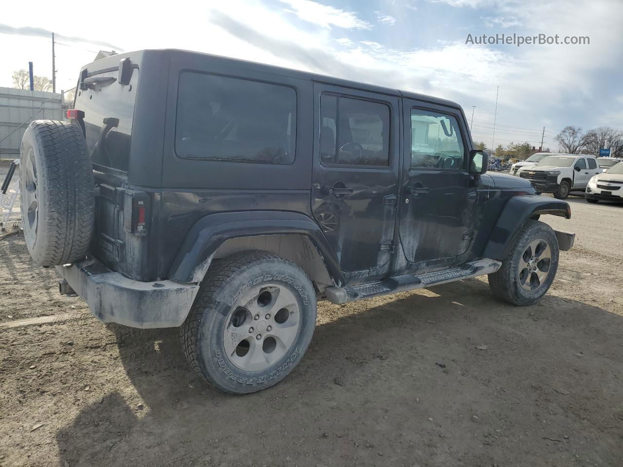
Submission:
M 535 303 L 573 234 L 529 181 L 486 174 L 459 105 L 181 50 L 80 71 L 70 123 L 24 134 L 32 258 L 105 323 L 181 326 L 191 365 L 254 392 L 302 358 L 316 301 L 488 275 Z

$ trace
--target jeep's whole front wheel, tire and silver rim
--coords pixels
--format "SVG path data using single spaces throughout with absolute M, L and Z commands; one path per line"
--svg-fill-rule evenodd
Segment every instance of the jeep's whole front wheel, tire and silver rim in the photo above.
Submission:
M 528 220 L 502 267 L 488 275 L 493 295 L 515 305 L 530 305 L 549 290 L 558 270 L 556 233 L 538 220 Z

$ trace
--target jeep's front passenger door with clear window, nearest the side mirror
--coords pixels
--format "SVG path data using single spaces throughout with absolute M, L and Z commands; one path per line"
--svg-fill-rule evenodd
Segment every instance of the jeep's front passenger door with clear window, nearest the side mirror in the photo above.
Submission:
M 404 100 L 403 112 L 402 249 L 418 263 L 412 269 L 447 267 L 473 238 L 477 191 L 467 172 L 467 128 L 455 108 Z

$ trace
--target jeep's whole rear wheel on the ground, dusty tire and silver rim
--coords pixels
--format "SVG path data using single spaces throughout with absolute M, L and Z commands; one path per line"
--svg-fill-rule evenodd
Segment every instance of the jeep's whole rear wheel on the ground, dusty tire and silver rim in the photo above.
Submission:
M 315 326 L 315 291 L 301 268 L 272 253 L 244 252 L 208 270 L 181 339 L 207 382 L 248 394 L 292 371 Z

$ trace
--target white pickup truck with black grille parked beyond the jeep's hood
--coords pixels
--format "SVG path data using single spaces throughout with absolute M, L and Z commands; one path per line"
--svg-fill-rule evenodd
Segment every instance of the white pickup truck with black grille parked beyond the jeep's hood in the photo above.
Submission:
M 584 191 L 589 179 L 600 172 L 595 156 L 556 154 L 541 159 L 533 167 L 520 169 L 519 176 L 530 180 L 542 193 L 566 199 L 571 191 Z

